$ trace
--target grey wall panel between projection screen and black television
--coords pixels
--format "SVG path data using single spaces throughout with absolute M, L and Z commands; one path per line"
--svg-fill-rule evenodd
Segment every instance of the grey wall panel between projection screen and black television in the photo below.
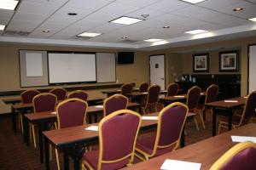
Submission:
M 97 82 L 116 82 L 115 54 L 96 53 Z

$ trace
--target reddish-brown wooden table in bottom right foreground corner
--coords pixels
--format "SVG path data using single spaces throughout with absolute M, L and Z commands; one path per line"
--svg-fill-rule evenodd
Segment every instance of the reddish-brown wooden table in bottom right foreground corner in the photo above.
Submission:
M 256 136 L 256 124 L 250 123 L 242 127 L 238 127 L 218 136 L 202 140 L 195 144 L 191 144 L 179 150 L 172 151 L 162 156 L 154 157 L 148 161 L 143 161 L 125 167 L 124 170 L 148 170 L 160 169 L 161 165 L 166 159 L 179 160 L 179 161 L 192 161 L 201 163 L 201 170 L 208 170 L 212 164 L 218 160 L 227 150 L 237 143 L 232 142 L 230 136 Z

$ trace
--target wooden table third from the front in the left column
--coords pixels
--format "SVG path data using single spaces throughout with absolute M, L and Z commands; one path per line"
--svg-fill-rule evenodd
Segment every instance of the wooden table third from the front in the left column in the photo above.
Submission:
M 13 102 L 15 100 L 20 99 L 20 98 L 14 98 L 12 99 Z M 8 100 L 9 102 L 11 99 Z M 62 100 L 57 101 L 57 104 L 59 104 Z M 88 105 L 99 105 L 99 103 L 102 103 L 103 98 L 89 98 L 87 99 Z M 11 102 L 10 102 L 11 103 Z M 11 105 L 11 111 L 12 111 L 12 124 L 13 124 L 13 130 L 16 131 L 16 116 L 17 113 L 21 113 L 22 115 L 26 113 L 27 111 L 31 111 L 33 108 L 32 103 L 29 104 L 15 104 Z

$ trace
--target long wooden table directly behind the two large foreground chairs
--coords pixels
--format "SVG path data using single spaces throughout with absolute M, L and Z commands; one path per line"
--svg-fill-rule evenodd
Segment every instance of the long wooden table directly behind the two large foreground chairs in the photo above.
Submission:
M 158 113 L 148 114 L 146 116 L 158 116 Z M 188 116 L 195 116 L 195 114 L 189 114 Z M 63 150 L 64 169 L 69 168 L 67 150 L 72 150 L 71 156 L 73 157 L 73 166 L 75 170 L 79 170 L 80 159 L 84 153 L 79 151 L 79 144 L 90 144 L 98 139 L 98 132 L 84 130 L 86 127 L 90 127 L 90 124 L 78 127 L 67 127 L 57 130 L 51 130 L 43 132 L 44 134 L 44 151 L 45 151 L 45 167 L 49 169 L 49 143 L 53 144 L 59 150 Z M 143 120 L 140 130 L 155 127 L 157 120 Z M 184 131 L 184 128 L 183 128 Z M 184 133 L 182 133 L 182 139 L 184 140 Z

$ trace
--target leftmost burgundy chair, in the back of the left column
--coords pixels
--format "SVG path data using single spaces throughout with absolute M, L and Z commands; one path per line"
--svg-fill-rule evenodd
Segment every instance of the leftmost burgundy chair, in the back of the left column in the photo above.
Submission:
M 20 94 L 20 99 L 22 104 L 32 104 L 33 98 L 40 94 L 38 90 L 26 90 Z M 21 127 L 21 132 L 23 133 L 23 119 L 22 119 L 22 114 L 19 114 L 20 117 L 20 127 Z

